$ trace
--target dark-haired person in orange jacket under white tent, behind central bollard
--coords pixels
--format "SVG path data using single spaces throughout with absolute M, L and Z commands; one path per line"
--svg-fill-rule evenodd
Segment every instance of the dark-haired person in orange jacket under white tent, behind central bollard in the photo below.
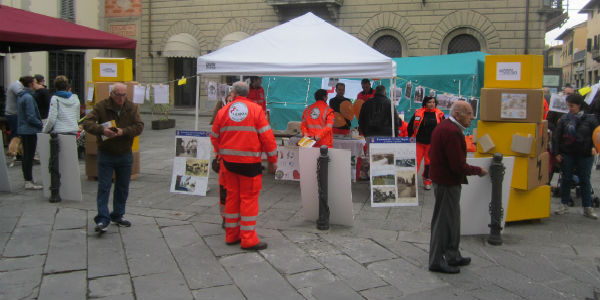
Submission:
M 327 91 L 317 90 L 315 100 L 315 103 L 304 110 L 300 130 L 303 136 L 317 141 L 313 147 L 325 145 L 331 148 L 333 147 L 333 109 L 327 105 Z

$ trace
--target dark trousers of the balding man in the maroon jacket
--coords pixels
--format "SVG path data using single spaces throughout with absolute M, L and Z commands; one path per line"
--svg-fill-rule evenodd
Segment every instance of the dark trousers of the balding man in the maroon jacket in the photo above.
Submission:
M 433 184 L 435 207 L 431 218 L 429 266 L 437 267 L 443 260 L 456 261 L 462 256 L 460 243 L 460 185 Z

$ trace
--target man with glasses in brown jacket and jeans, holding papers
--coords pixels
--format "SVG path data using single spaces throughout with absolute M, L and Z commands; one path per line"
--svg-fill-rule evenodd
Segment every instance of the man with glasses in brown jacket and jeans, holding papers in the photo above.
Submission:
M 110 222 L 129 227 L 131 222 L 125 220 L 123 215 L 133 164 L 131 145 L 133 138 L 144 130 L 144 123 L 140 119 L 139 107 L 127 99 L 127 86 L 115 83 L 110 97 L 96 103 L 87 115 L 83 128 L 95 135 L 98 143 L 98 214 L 94 218 L 95 230 L 106 232 Z M 108 198 L 113 172 L 113 211 L 109 213 Z

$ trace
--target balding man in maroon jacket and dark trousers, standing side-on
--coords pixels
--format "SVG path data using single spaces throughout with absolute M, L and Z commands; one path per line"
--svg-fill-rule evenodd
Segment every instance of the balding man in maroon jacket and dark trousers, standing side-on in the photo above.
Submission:
M 435 207 L 431 218 L 429 270 L 458 273 L 471 258 L 460 254 L 460 191 L 468 175 L 485 176 L 487 170 L 467 164 L 467 145 L 463 131 L 471 126 L 473 108 L 456 101 L 450 118 L 440 122 L 431 134 L 429 175 L 433 181 Z

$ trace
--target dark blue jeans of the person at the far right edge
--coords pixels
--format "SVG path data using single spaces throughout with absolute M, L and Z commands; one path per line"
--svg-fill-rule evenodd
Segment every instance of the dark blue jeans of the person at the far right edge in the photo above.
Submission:
M 560 182 L 560 201 L 567 204 L 571 198 L 571 183 L 573 174 L 579 177 L 579 189 L 581 191 L 581 206 L 592 206 L 592 185 L 590 174 L 594 164 L 593 156 L 580 157 L 576 155 L 563 155 L 560 164 L 562 173 Z

